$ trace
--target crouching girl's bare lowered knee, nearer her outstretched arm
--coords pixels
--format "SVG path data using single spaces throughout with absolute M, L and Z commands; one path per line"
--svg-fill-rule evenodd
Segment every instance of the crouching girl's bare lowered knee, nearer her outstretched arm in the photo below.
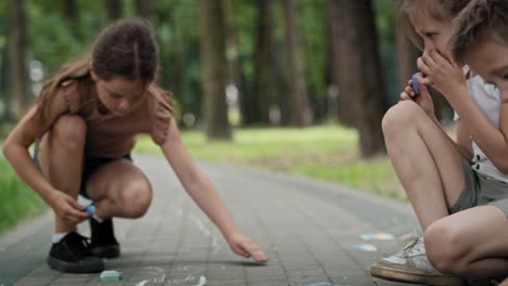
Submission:
M 152 202 L 147 177 L 130 161 L 117 160 L 99 168 L 88 180 L 88 195 L 99 218 L 139 218 Z

